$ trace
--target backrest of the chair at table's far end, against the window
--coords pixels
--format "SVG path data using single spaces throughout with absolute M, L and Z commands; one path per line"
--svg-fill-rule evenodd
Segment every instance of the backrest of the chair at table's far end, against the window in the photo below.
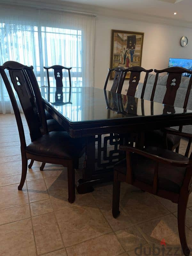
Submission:
M 54 70 L 54 76 L 55 76 L 55 80 L 56 80 L 56 87 L 63 87 L 63 69 L 67 69 L 68 70 L 68 76 L 69 76 L 69 86 L 71 87 L 71 73 L 70 73 L 70 69 L 71 68 L 66 68 L 60 65 L 54 65 L 51 67 L 44 67 L 44 69 L 46 69 L 47 71 L 47 82 L 48 82 L 48 87 L 50 87 L 50 80 L 49 80 L 49 69 L 53 69 Z

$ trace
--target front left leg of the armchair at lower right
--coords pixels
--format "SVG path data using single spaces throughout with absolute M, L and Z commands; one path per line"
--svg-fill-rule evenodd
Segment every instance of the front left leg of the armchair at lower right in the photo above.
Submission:
M 121 187 L 121 182 L 118 180 L 118 172 L 114 171 L 112 214 L 115 219 L 120 214 L 120 211 L 119 211 L 120 187 Z

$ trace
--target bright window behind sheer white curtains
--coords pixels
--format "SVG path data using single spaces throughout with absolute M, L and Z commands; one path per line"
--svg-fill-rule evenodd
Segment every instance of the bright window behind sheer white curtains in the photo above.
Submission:
M 81 30 L 0 23 L 0 63 L 15 60 L 33 65 L 41 86 L 47 84 L 46 70 L 43 66 L 52 65 L 72 67 L 72 86 L 82 86 L 81 53 Z M 50 84 L 55 84 L 51 69 Z M 69 85 L 68 72 L 65 70 L 63 84 Z

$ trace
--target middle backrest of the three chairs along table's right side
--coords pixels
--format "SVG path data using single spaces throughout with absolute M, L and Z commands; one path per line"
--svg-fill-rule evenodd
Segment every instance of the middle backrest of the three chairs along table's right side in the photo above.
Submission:
M 141 74 L 141 72 L 145 72 L 146 75 L 145 75 L 145 79 L 144 79 L 144 83 L 143 83 L 143 88 L 142 88 L 142 92 L 141 92 L 141 99 L 143 99 L 145 88 L 146 88 L 146 84 L 147 84 L 148 75 L 152 71 L 153 71 L 153 69 L 147 70 L 145 68 L 137 67 L 137 66 L 124 69 L 123 70 L 123 74 L 122 74 L 122 79 L 121 79 L 121 82 L 120 82 L 120 84 L 118 86 L 117 92 L 121 93 L 122 88 L 123 88 L 123 84 L 124 84 L 124 80 L 125 80 L 125 77 L 126 77 L 126 74 L 127 74 L 127 72 L 131 72 L 130 78 L 129 78 L 129 88 L 127 90 L 127 95 L 134 97 L 136 89 L 137 89 L 137 85 L 139 84 L 139 81 L 140 81 L 140 74 Z

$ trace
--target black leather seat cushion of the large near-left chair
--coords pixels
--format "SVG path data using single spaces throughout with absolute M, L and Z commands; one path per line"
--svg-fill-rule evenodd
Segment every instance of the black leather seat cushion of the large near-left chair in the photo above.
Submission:
M 73 139 L 67 132 L 49 132 L 31 142 L 26 152 L 39 156 L 72 159 L 81 156 L 84 138 Z

